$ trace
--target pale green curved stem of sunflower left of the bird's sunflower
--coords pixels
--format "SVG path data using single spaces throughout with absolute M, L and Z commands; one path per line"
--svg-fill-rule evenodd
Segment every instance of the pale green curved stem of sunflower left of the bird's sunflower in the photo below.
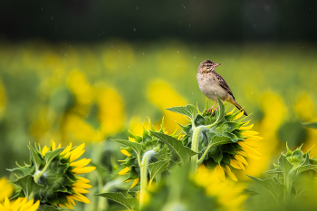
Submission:
M 148 166 L 149 158 L 155 153 L 154 150 L 149 150 L 144 153 L 142 163 L 139 165 L 140 172 L 140 189 L 139 189 L 139 208 L 141 209 L 144 205 L 144 194 L 148 187 Z

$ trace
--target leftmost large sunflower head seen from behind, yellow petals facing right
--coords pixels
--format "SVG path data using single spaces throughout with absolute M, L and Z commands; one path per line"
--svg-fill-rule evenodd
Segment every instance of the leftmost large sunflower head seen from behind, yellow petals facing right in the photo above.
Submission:
M 45 145 L 43 149 L 40 145 L 36 149 L 29 146 L 32 163 L 25 167 L 19 166 L 20 169 L 24 168 L 24 175 L 17 176 L 34 177 L 33 186 L 36 188 L 30 195 L 34 196 L 35 200 L 39 199 L 41 204 L 70 209 L 75 206 L 75 200 L 90 204 L 89 199 L 82 195 L 89 192 L 87 188 L 91 188 L 91 185 L 88 184 L 90 180 L 77 176 L 95 169 L 95 167 L 85 167 L 91 162 L 91 159 L 82 158 L 76 161 L 84 153 L 84 147 L 83 143 L 72 148 L 72 143 L 70 143 L 65 149 L 61 149 L 61 144 L 56 147 L 53 140 L 50 147 Z M 19 177 L 14 183 L 19 185 L 22 177 Z

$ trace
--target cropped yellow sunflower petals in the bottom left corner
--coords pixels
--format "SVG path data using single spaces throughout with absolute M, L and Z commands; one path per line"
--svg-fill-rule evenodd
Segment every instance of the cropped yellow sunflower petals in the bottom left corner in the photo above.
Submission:
M 14 188 L 5 177 L 0 179 L 0 210 L 4 211 L 35 211 L 40 206 L 40 201 L 34 203 L 34 199 L 27 201 L 26 197 L 9 200 Z

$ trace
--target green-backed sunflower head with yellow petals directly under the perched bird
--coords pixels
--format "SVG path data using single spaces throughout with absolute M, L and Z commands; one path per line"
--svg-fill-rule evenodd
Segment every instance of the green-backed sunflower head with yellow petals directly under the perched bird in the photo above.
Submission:
M 222 101 L 218 100 L 218 104 L 219 109 L 212 114 L 207 114 L 207 105 L 203 112 L 193 105 L 168 110 L 189 118 L 187 125 L 179 124 L 185 133 L 181 140 L 184 146 L 193 149 L 193 139 L 198 139 L 199 164 L 218 171 L 222 180 L 225 179 L 225 172 L 237 180 L 232 168 L 245 169 L 244 165 L 248 165 L 245 157 L 260 158 L 261 154 L 255 150 L 255 141 L 262 138 L 252 130 L 253 124 L 248 125 L 249 121 L 241 120 L 243 112 L 234 112 L 235 109 L 226 112 Z

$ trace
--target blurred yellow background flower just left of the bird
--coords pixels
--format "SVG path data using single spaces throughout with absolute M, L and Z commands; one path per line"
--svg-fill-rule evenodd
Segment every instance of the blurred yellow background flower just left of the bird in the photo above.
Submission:
M 164 81 L 153 81 L 149 84 L 148 91 L 149 101 L 159 106 L 164 116 L 164 123 L 168 131 L 174 131 L 176 128 L 175 122 L 180 124 L 186 124 L 187 120 L 177 114 L 165 110 L 174 106 L 185 106 L 187 104 L 186 99 L 181 97 L 178 92 L 174 91 L 167 82 Z

